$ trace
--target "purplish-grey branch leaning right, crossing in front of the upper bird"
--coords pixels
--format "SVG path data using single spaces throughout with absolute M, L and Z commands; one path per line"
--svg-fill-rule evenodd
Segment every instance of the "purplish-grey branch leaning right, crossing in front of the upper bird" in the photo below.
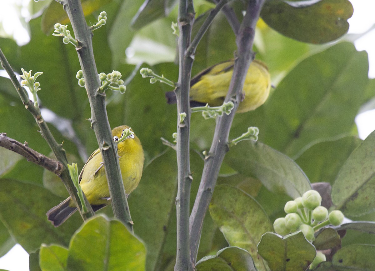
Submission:
M 217 118 L 212 145 L 205 159 L 202 179 L 195 198 L 192 214 L 190 215 L 190 259 L 196 261 L 199 240 L 201 237 L 203 218 L 211 201 L 217 176 L 224 155 L 228 151 L 228 136 L 234 114 L 239 105 L 246 73 L 253 59 L 252 45 L 254 42 L 255 26 L 265 0 L 252 0 L 248 2 L 245 17 L 236 33 L 238 57 L 235 60 L 233 76 L 225 102 L 232 101 L 234 108 L 229 115 Z

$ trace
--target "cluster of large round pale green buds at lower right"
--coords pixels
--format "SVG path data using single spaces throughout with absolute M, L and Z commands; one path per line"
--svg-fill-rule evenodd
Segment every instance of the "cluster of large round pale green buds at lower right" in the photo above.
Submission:
M 324 226 L 339 226 L 344 220 L 341 211 L 334 210 L 328 214 L 326 207 L 321 206 L 322 197 L 315 190 L 305 192 L 302 197 L 288 201 L 284 206 L 287 213 L 273 223 L 279 235 L 287 235 L 301 230 L 310 242 L 315 240 L 314 232 Z

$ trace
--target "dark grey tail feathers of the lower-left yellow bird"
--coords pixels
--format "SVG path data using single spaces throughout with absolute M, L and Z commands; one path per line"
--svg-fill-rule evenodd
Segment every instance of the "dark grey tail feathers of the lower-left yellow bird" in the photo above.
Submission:
M 52 222 L 52 225 L 55 227 L 60 226 L 67 220 L 72 214 L 77 211 L 77 207 L 71 207 L 69 206 L 69 202 L 71 200 L 71 197 L 68 197 L 68 199 L 64 200 L 59 205 L 53 207 L 47 212 L 48 220 Z M 98 211 L 99 209 L 106 206 L 106 204 L 101 205 L 91 205 L 94 212 Z

